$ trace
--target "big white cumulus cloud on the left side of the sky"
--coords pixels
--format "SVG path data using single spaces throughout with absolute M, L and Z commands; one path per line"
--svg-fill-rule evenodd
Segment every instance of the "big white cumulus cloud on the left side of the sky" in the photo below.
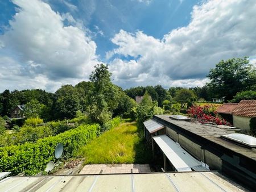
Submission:
M 13 3 L 19 7 L 18 12 L 10 20 L 10 28 L 0 36 L 0 53 L 15 58 L 18 72 L 14 75 L 53 82 L 89 76 L 98 62 L 96 43 L 75 26 L 71 14 L 61 16 L 39 0 Z M 74 26 L 64 26 L 65 19 Z M 3 54 L 0 57 L 3 60 Z M 10 70 L 9 62 L 0 66 L 6 68 L 5 72 Z

